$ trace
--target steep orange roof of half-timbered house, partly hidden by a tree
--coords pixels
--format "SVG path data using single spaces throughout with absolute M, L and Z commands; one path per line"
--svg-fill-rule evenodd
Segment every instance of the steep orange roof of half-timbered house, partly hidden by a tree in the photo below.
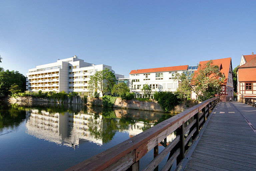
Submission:
M 209 60 L 210 61 L 210 60 Z M 203 66 L 209 61 L 200 61 L 199 64 Z M 224 83 L 227 83 L 228 79 L 228 73 L 229 73 L 229 67 L 231 64 L 231 58 L 222 58 L 222 59 L 214 59 L 212 60 L 212 65 L 218 65 L 219 67 L 221 66 L 220 72 L 222 72 L 226 79 L 224 80 Z M 200 67 L 198 67 L 197 71 L 195 71 L 194 77 L 196 76 L 196 73 L 200 70 Z

